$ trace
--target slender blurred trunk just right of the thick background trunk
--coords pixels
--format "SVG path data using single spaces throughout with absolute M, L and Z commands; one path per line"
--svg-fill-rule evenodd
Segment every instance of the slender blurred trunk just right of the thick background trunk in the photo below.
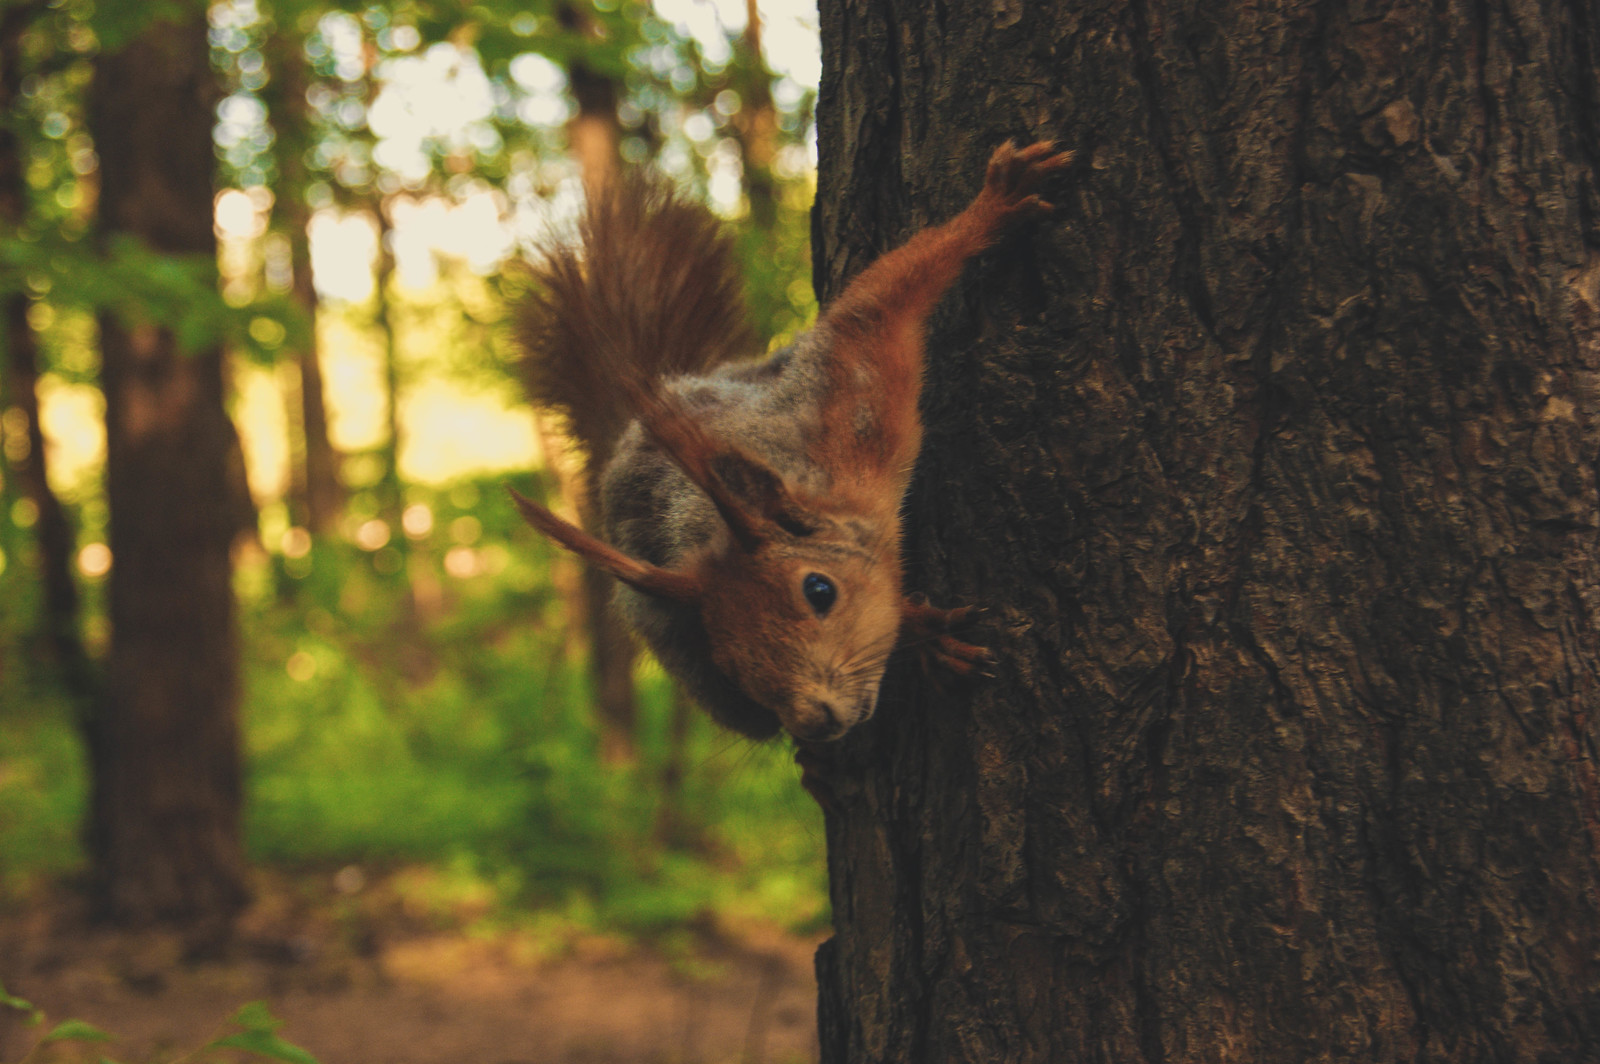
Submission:
M 283 18 L 290 18 L 285 13 Z M 323 400 L 322 360 L 317 344 L 317 286 L 310 272 L 310 208 L 306 187 L 310 174 L 306 152 L 312 142 L 306 40 L 290 27 L 278 27 L 269 40 L 274 80 L 269 114 L 275 133 L 278 195 L 274 206 L 278 226 L 290 242 L 291 294 L 306 314 L 306 342 L 290 352 L 299 376 L 291 421 L 299 426 L 298 461 L 290 475 L 290 507 L 296 522 L 314 533 L 326 533 L 344 510 L 339 482 L 339 453 L 328 437 L 328 408 Z

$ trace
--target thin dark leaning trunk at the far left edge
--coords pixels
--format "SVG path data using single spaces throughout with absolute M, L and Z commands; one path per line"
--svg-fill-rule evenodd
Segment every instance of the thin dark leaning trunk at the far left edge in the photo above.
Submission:
M 18 5 L 0 16 L 0 114 L 16 112 L 22 85 L 22 34 L 43 11 L 43 3 Z M 24 176 L 22 139 L 10 125 L 0 125 L 0 224 L 16 234 L 27 221 L 27 179 Z M 27 322 L 27 293 L 3 298 L 5 357 L 0 365 L 0 395 L 14 403 L 27 421 L 27 445 L 13 470 L 22 498 L 34 502 L 38 518 L 34 536 L 38 542 L 40 582 L 43 586 L 45 643 L 67 690 L 80 701 L 93 694 L 93 678 L 83 640 L 78 635 L 78 586 L 72 578 L 75 534 L 61 499 L 50 488 L 50 456 L 38 422 L 38 342 Z M 5 403 L 0 403 L 3 410 Z M 8 515 L 0 515 L 6 520 Z

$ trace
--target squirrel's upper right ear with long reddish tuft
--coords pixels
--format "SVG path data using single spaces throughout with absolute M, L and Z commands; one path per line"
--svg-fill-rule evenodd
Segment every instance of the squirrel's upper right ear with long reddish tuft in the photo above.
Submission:
M 773 539 L 779 530 L 790 536 L 810 536 L 816 531 L 810 510 L 790 494 L 784 478 L 771 466 L 731 443 L 712 438 L 674 398 L 659 390 L 637 389 L 632 398 L 645 430 L 710 496 L 744 549 Z

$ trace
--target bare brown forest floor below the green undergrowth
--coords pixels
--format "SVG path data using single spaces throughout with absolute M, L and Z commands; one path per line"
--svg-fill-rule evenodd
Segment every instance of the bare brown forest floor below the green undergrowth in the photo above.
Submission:
M 168 1062 L 246 1002 L 322 1064 L 798 1064 L 814 1061 L 821 934 L 701 925 L 614 936 L 432 890 L 435 874 L 258 874 L 221 947 L 112 931 L 58 890 L 0 906 L 0 984 L 48 1014 L 0 1010 L 0 1061 L 80 1019 L 110 1045 L 54 1043 L 29 1064 Z M 256 1058 L 259 1059 L 259 1058 Z

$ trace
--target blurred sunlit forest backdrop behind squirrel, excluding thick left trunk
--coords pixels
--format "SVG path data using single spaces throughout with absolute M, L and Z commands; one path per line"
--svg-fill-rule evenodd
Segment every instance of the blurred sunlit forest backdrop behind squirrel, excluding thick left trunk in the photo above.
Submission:
M 570 224 L 586 182 L 664 170 L 733 226 L 770 344 L 814 314 L 814 13 L 210 5 L 205 261 L 96 232 L 86 114 L 101 53 L 198 10 L 0 6 L 0 904 L 88 877 L 112 315 L 224 350 L 258 890 L 382 880 L 546 954 L 595 933 L 821 928 L 821 816 L 789 752 L 715 733 L 648 661 L 637 709 L 597 714 L 582 578 L 504 491 L 574 506 L 560 424 L 522 390 L 506 264 Z

